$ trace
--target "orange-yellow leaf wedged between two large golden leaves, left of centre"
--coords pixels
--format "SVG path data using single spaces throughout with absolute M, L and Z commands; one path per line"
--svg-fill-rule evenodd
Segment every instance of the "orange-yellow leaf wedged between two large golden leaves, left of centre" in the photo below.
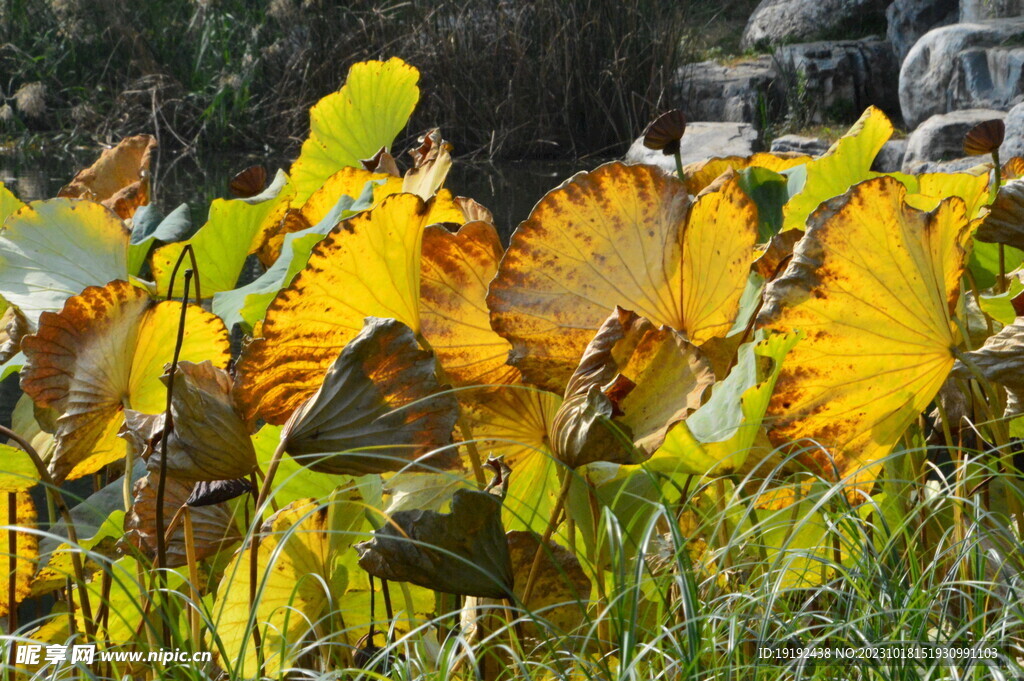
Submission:
M 459 385 L 518 383 L 506 364 L 511 344 L 490 328 L 487 285 L 504 249 L 486 222 L 423 232 L 420 322 L 447 377 Z

